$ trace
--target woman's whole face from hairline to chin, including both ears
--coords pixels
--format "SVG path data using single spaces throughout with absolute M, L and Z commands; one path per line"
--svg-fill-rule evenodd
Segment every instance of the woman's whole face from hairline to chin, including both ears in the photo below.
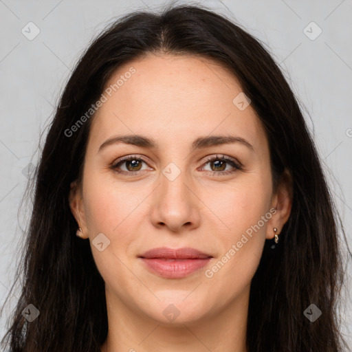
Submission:
M 239 83 L 212 61 L 167 55 L 120 67 L 106 88 L 72 209 L 109 305 L 170 324 L 246 307 L 265 238 L 288 213 Z M 155 248 L 168 250 L 146 259 Z

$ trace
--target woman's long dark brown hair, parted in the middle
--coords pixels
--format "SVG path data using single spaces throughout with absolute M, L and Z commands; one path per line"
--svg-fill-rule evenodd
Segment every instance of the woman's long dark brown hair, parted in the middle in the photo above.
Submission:
M 229 19 L 200 6 L 134 12 L 91 43 L 69 78 L 47 133 L 34 177 L 34 201 L 23 262 L 24 282 L 10 329 L 12 352 L 100 352 L 107 338 L 104 281 L 89 241 L 75 236 L 69 208 L 72 181 L 82 176 L 91 120 L 65 133 L 120 65 L 148 53 L 210 58 L 236 76 L 265 126 L 274 179 L 287 168 L 293 203 L 275 250 L 267 241 L 252 279 L 247 344 L 250 352 L 341 350 L 336 298 L 342 285 L 338 229 L 318 153 L 298 102 L 272 56 Z M 342 227 L 341 227 L 342 228 Z M 29 304 L 40 316 L 28 322 Z M 314 304 L 322 316 L 303 314 Z

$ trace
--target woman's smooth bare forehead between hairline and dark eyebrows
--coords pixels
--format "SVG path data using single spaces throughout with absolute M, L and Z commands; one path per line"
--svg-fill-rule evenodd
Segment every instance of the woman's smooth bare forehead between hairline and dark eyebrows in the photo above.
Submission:
M 133 72 L 133 73 L 131 73 Z M 119 67 L 104 89 L 90 138 L 143 134 L 164 142 L 188 143 L 192 135 L 233 131 L 253 144 L 265 142 L 254 109 L 234 103 L 242 89 L 236 77 L 198 56 L 146 56 Z

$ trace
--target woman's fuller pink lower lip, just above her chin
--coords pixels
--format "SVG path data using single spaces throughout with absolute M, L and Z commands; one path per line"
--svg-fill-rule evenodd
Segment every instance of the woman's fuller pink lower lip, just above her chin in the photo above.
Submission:
M 206 266 L 211 258 L 206 259 L 173 259 L 166 261 L 165 259 L 146 259 L 142 258 L 146 267 L 154 274 L 159 274 L 164 278 L 184 278 L 197 272 Z

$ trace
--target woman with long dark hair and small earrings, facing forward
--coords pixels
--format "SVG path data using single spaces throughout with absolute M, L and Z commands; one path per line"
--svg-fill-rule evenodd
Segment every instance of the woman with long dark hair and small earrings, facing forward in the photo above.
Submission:
M 138 12 L 100 34 L 35 187 L 11 351 L 343 346 L 316 148 L 270 54 L 219 14 Z

